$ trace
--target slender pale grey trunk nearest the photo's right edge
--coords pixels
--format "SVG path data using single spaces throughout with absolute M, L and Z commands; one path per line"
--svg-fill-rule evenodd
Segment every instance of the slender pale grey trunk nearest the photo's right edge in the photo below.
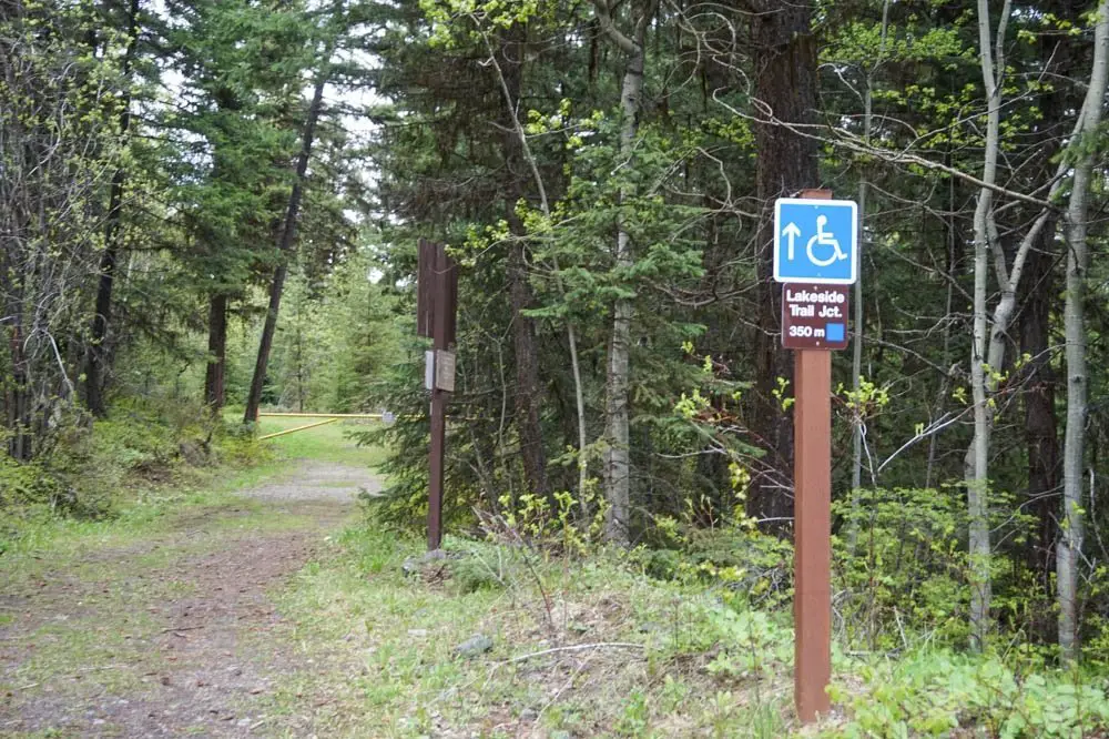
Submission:
M 1085 146 L 1075 163 L 1075 178 L 1067 206 L 1067 300 L 1064 325 L 1067 337 L 1067 432 L 1062 448 L 1062 537 L 1056 547 L 1056 583 L 1059 597 L 1059 648 L 1065 660 L 1078 658 L 1078 560 L 1082 553 L 1082 472 L 1086 445 L 1086 243 L 1089 190 L 1095 151 L 1092 136 L 1101 122 L 1106 81 L 1109 79 L 1109 0 L 1098 3 L 1093 37 L 1090 87 L 1082 105 L 1080 135 L 1071 145 Z

